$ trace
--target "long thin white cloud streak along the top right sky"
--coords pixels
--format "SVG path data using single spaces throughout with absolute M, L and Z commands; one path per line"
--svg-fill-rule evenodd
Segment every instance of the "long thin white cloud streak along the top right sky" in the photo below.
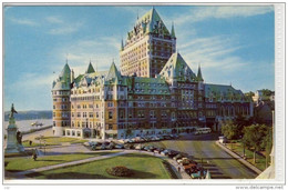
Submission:
M 228 19 L 234 17 L 251 17 L 274 11 L 272 6 L 220 6 L 193 8 L 187 13 L 177 17 L 175 23 L 185 24 L 199 22 L 206 19 Z

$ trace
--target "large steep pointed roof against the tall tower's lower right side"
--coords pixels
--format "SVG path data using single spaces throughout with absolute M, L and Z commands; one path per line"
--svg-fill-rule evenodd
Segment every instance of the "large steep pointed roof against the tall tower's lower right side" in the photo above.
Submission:
M 169 60 L 160 72 L 160 76 L 164 77 L 166 80 L 175 79 L 177 81 L 196 81 L 195 73 L 178 52 L 171 56 Z

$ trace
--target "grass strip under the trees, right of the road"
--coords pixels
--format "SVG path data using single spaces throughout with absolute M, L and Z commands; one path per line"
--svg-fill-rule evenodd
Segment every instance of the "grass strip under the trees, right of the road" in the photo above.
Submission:
M 233 151 L 239 156 L 243 156 L 243 143 L 227 143 L 229 149 L 233 148 Z M 263 154 L 256 153 L 256 163 L 254 163 L 254 152 L 251 150 L 245 149 L 246 160 L 254 164 L 256 168 L 260 170 L 266 169 L 266 158 Z M 268 163 L 270 162 L 270 157 L 268 158 Z

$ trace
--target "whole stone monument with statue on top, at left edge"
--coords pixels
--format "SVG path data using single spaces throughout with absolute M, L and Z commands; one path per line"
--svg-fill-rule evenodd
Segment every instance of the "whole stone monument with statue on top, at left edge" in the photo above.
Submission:
M 6 146 L 6 153 L 19 153 L 24 152 L 24 147 L 22 146 L 22 134 L 18 131 L 16 126 L 14 113 L 14 106 L 12 103 L 11 113 L 9 116 L 9 126 L 7 128 L 7 146 Z

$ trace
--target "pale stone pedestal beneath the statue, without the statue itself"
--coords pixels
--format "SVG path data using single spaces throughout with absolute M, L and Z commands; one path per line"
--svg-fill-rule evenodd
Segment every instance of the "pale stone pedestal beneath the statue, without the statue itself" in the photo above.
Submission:
M 23 152 L 24 148 L 18 143 L 17 140 L 17 126 L 14 118 L 9 118 L 9 126 L 7 128 L 7 147 L 6 153 L 19 153 Z

